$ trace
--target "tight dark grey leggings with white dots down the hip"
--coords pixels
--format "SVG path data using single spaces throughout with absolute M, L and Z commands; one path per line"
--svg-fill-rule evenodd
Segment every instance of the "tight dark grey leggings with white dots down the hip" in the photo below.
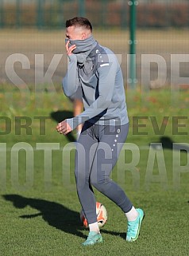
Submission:
M 98 125 L 85 122 L 75 153 L 75 180 L 79 201 L 89 224 L 97 221 L 92 187 L 106 195 L 125 213 L 132 203 L 112 179 L 110 173 L 125 143 L 129 124 Z

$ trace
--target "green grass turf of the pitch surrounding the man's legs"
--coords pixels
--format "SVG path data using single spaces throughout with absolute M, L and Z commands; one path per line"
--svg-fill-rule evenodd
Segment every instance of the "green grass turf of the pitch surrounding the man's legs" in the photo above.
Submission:
M 179 156 L 179 152 L 172 151 L 170 145 L 172 146 L 172 142 L 187 143 L 189 93 L 187 91 L 180 93 L 178 108 L 172 104 L 168 90 L 152 91 L 142 98 L 139 91 L 126 94 L 130 119 L 127 142 L 135 146 L 135 149 L 133 148 L 132 152 L 126 151 L 125 154 L 122 152 L 112 177 L 125 189 L 133 204 L 145 210 L 145 220 L 137 242 L 125 242 L 127 223 L 124 214 L 109 199 L 95 191 L 97 200 L 106 206 L 108 212 L 108 222 L 102 228 L 104 242 L 87 248 L 81 246 L 87 236 L 87 230 L 79 221 L 80 205 L 73 173 L 74 152 L 71 152 L 70 164 L 68 155 L 65 155 L 65 147 L 71 147 L 72 144 L 68 143 L 73 140 L 75 134 L 69 137 L 60 136 L 55 129 L 56 120 L 52 119 L 46 120 L 45 129 L 42 126 L 42 133 L 45 132 L 40 134 L 39 120 L 34 118 L 34 116 L 51 116 L 52 112 L 57 114 L 58 110 L 62 111 L 63 116 L 70 116 L 71 103 L 62 93 L 56 95 L 44 93 L 40 95 L 43 96 L 44 102 L 37 108 L 34 93 L 31 93 L 30 100 L 26 103 L 25 100 L 21 100 L 18 92 L 13 93 L 13 101 L 7 102 L 5 93 L 2 92 L 0 93 L 1 116 L 10 118 L 11 132 L 3 135 L 9 130 L 6 130 L 5 122 L 1 120 L 1 143 L 6 143 L 4 144 L 6 152 L 3 152 L 0 144 L 0 255 L 188 255 L 189 167 L 185 168 L 186 173 L 175 176 L 176 171 L 179 170 L 176 166 L 179 160 L 183 169 L 189 164 L 188 154 L 181 152 Z M 185 104 L 185 108 L 181 108 L 180 104 Z M 32 134 L 26 134 L 25 128 L 21 128 L 19 134 L 19 126 L 15 125 L 14 121 L 15 116 L 31 118 L 32 130 L 28 132 Z M 136 120 L 133 126 L 133 116 L 136 118 L 143 116 L 138 120 L 138 124 L 145 126 L 140 126 L 136 130 Z M 156 120 L 150 119 L 150 116 L 155 116 Z M 160 129 L 164 116 L 169 117 L 168 125 L 164 126 L 166 124 L 164 120 L 162 130 L 158 132 L 156 124 Z M 182 117 L 178 124 L 185 126 L 178 126 L 174 116 Z M 21 124 L 25 124 L 24 119 Z M 148 134 L 141 135 L 140 132 Z M 167 141 L 164 143 L 163 152 L 154 151 L 152 148 L 149 150 L 150 143 L 162 141 Z M 19 152 L 19 183 L 15 177 L 14 150 L 20 147 L 21 142 L 28 148 L 31 147 L 33 152 L 33 156 L 29 155 L 33 157 L 33 169 L 28 167 L 31 179 L 27 185 L 25 185 L 24 151 Z M 46 161 L 52 160 L 52 179 L 50 176 L 45 177 L 47 171 L 44 169 L 47 170 L 49 166 L 44 167 L 44 151 L 36 150 L 37 145 L 44 143 L 48 143 L 48 147 L 51 147 L 52 143 L 60 147 L 60 150 L 52 151 L 52 158 L 48 155 L 46 159 Z M 29 151 L 27 153 L 29 154 Z M 139 159 L 136 167 L 129 165 L 133 160 L 137 161 L 137 157 Z M 152 181 L 154 175 L 157 176 L 156 182 Z M 50 180 L 50 183 L 45 183 L 45 179 Z

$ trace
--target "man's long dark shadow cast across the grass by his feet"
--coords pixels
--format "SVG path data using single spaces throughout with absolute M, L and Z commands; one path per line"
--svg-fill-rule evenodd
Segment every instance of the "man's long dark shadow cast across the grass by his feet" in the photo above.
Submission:
M 79 212 L 72 211 L 60 203 L 50 202 L 44 199 L 30 199 L 21 195 L 2 195 L 6 201 L 13 203 L 13 207 L 24 209 L 29 206 L 39 211 L 33 215 L 21 215 L 21 219 L 32 219 L 41 216 L 49 226 L 56 227 L 65 233 L 74 234 L 86 238 L 83 234 L 84 227 L 81 225 Z M 118 233 L 102 229 L 102 234 L 112 234 L 125 238 L 125 233 Z

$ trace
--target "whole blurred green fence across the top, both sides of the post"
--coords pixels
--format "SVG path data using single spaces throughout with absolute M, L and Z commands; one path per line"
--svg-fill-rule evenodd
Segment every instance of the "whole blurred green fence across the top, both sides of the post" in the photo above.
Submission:
M 62 28 L 87 16 L 100 28 L 129 26 L 127 0 L 0 0 L 0 27 Z M 138 0 L 137 27 L 189 27 L 188 0 Z

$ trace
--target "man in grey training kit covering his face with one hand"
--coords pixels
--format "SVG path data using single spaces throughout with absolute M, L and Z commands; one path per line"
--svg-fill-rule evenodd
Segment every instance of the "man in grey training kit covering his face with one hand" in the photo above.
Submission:
M 87 18 L 72 18 L 66 28 L 69 63 L 64 93 L 71 96 L 81 86 L 84 111 L 63 120 L 56 129 L 66 135 L 83 124 L 75 153 L 76 187 L 90 231 L 83 245 L 102 242 L 92 187 L 121 207 L 128 219 L 125 239 L 133 242 L 138 238 L 144 212 L 135 209 L 122 188 L 110 179 L 129 129 L 122 71 L 114 53 L 95 41 Z

